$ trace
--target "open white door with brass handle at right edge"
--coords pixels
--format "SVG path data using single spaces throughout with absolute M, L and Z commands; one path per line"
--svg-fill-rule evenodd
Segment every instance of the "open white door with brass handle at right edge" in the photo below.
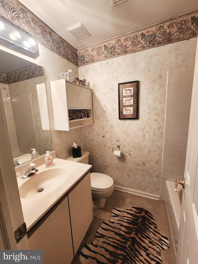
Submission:
M 182 197 L 177 264 L 198 263 L 198 42 Z

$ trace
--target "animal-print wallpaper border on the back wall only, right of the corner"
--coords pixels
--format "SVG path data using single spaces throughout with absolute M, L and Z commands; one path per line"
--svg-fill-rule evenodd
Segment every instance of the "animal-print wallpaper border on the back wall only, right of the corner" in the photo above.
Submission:
M 78 50 L 78 66 L 197 37 L 198 10 Z

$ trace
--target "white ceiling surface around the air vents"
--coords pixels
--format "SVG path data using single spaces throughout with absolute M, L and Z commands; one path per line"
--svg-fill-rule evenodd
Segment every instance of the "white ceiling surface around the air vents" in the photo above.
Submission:
M 197 0 L 19 0 L 74 48 L 80 49 L 198 10 Z M 91 34 L 77 40 L 67 28 L 82 23 Z

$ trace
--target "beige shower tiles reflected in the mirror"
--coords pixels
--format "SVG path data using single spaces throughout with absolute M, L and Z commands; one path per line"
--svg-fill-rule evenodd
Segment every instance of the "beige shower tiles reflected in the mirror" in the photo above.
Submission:
M 30 94 L 10 97 L 7 84 L 0 84 L 13 158 L 37 148 Z

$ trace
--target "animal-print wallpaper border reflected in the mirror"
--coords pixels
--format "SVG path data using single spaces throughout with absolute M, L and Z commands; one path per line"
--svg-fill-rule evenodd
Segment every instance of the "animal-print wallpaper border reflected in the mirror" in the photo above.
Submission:
M 0 83 L 12 84 L 44 75 L 43 67 L 33 64 L 17 71 L 11 71 L 7 74 L 0 72 Z

